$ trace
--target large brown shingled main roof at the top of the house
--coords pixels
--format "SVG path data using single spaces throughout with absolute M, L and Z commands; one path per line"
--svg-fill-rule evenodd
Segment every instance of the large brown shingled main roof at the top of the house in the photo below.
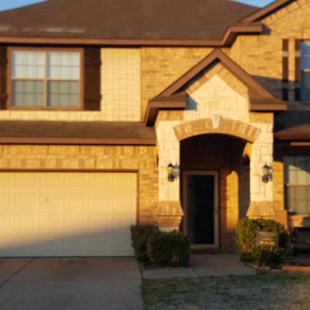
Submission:
M 50 0 L 0 12 L 0 37 L 218 40 L 257 10 L 230 0 Z

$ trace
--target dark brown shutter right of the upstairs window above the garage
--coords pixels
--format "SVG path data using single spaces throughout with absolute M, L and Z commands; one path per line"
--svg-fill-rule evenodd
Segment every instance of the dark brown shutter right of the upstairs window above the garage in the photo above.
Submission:
M 100 48 L 84 49 L 84 110 L 100 110 Z

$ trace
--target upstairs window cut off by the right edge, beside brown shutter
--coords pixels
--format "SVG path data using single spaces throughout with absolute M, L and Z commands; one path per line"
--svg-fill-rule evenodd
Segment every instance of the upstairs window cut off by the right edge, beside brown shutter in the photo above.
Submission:
M 310 100 L 310 41 L 302 41 L 300 44 L 300 69 L 301 85 L 300 99 Z

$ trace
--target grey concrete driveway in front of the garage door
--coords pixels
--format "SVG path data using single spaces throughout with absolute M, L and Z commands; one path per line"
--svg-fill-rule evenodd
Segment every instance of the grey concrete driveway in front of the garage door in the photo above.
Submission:
M 1 310 L 142 310 L 131 257 L 0 259 Z

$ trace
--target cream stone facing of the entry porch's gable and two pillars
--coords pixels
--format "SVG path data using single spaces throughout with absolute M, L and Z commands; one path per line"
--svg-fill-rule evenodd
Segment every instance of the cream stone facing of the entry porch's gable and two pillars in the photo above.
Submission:
M 188 95 L 197 103 L 197 109 L 187 109 L 178 114 L 175 113 L 174 116 L 178 120 L 174 119 L 173 121 L 162 121 L 162 116 L 159 115 L 156 122 L 157 148 L 159 150 L 159 200 L 179 199 L 179 185 L 176 182 L 168 183 L 166 180 L 167 163 L 179 163 L 179 141 L 175 136 L 174 127 L 204 118 L 212 121 L 214 117 L 219 119 L 220 116 L 223 120 L 236 120 L 254 126 L 260 131 L 252 145 L 250 199 L 251 201 L 272 202 L 272 181 L 264 184 L 261 181 L 261 176 L 265 162 L 271 165 L 273 160 L 273 114 L 249 113 L 246 86 L 220 64 L 207 72 L 205 76 L 206 78 L 201 77 L 187 89 Z M 235 134 L 233 130 L 231 134 Z

